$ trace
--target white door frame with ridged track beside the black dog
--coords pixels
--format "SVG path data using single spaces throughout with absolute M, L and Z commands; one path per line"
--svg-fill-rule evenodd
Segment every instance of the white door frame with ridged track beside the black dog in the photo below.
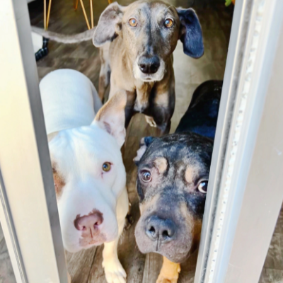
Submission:
M 260 279 L 283 200 L 282 13 L 236 0 L 195 283 Z

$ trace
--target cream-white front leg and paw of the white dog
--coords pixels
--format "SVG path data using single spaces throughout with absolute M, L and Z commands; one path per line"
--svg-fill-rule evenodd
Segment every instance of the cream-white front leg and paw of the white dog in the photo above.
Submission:
M 129 199 L 127 196 L 127 189 L 123 190 L 117 201 L 117 222 L 118 222 L 118 237 L 115 241 L 104 244 L 103 249 L 103 267 L 106 281 L 108 283 L 126 283 L 126 272 L 122 267 L 118 255 L 117 246 L 119 238 L 125 226 L 125 216 L 127 215 L 129 207 Z

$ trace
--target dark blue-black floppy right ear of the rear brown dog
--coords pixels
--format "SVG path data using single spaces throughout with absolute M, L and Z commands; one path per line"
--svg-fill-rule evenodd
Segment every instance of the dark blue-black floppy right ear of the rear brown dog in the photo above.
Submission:
M 192 58 L 200 58 L 204 54 L 202 27 L 197 14 L 192 8 L 177 8 L 180 18 L 180 40 L 184 53 Z

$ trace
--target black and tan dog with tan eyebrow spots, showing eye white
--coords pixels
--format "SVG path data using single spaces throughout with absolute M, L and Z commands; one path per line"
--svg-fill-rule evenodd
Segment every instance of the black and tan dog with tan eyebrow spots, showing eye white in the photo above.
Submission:
M 180 262 L 200 241 L 222 81 L 202 83 L 174 134 L 146 137 L 134 161 L 142 253 L 163 255 L 157 282 L 178 281 Z M 166 281 L 167 280 L 167 281 Z

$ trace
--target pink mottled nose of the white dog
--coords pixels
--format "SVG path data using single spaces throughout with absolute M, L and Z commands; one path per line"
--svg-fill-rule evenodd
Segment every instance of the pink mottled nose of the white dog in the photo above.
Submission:
M 103 223 L 101 212 L 91 212 L 88 215 L 76 217 L 74 226 L 79 231 L 90 230 L 98 231 L 98 226 Z

